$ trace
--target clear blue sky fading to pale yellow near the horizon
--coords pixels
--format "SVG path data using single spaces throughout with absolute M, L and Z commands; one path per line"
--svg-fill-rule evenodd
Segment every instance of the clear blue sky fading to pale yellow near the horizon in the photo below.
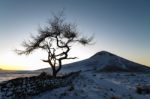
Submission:
M 150 66 L 150 0 L 0 0 L 0 68 L 36 70 L 49 67 L 37 51 L 19 56 L 13 50 L 36 35 L 52 13 L 64 10 L 67 22 L 83 35 L 94 34 L 94 45 L 76 45 L 70 52 L 79 61 L 106 50 Z M 68 62 L 64 62 L 68 63 Z

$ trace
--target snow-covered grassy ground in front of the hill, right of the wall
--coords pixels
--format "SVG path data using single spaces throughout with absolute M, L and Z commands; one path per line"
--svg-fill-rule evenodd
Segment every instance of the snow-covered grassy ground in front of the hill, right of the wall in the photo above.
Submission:
M 136 93 L 137 85 L 150 84 L 149 76 L 150 74 L 85 71 L 71 85 L 29 99 L 150 99 L 150 94 Z

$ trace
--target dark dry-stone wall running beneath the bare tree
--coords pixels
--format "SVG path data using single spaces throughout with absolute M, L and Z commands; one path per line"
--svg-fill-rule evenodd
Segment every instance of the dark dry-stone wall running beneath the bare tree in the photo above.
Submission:
M 0 90 L 4 99 L 25 99 L 29 95 L 37 95 L 47 90 L 67 86 L 78 76 L 79 72 L 53 78 L 46 73 L 39 76 L 17 78 L 0 84 Z

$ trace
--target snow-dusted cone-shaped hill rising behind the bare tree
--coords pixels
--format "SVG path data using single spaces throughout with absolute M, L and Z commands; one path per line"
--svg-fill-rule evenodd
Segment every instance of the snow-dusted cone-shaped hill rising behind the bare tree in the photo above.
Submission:
M 107 51 L 100 51 L 88 59 L 66 64 L 62 72 L 96 70 L 105 72 L 147 72 L 150 67 L 124 59 Z M 38 71 L 49 72 L 50 68 Z

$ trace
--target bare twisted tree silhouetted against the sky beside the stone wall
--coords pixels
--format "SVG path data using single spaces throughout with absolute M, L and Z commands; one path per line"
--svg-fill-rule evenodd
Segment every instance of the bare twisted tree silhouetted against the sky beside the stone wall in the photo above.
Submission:
M 43 62 L 48 63 L 52 68 L 52 76 L 56 77 L 62 68 L 62 61 L 66 59 L 75 59 L 69 57 L 73 43 L 88 45 L 93 37 L 83 37 L 76 31 L 76 25 L 67 23 L 63 15 L 53 15 L 49 20 L 48 26 L 40 28 L 37 36 L 31 36 L 32 40 L 24 41 L 23 50 L 16 49 L 18 55 L 29 55 L 36 49 L 43 49 L 48 56 Z

